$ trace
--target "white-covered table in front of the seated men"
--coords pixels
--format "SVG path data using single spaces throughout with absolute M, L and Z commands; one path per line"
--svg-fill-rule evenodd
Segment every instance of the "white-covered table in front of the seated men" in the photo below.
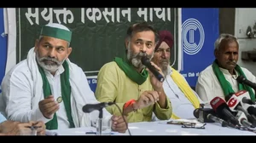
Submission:
M 207 123 L 206 129 L 186 129 L 181 125 L 167 124 L 167 121 L 129 123 L 131 135 L 256 135 L 247 130 L 221 127 L 220 123 Z M 75 128 L 52 130 L 58 135 L 87 135 L 85 132 L 96 131 L 95 128 Z M 91 134 L 90 134 L 91 135 Z M 129 135 L 113 132 L 113 135 Z

